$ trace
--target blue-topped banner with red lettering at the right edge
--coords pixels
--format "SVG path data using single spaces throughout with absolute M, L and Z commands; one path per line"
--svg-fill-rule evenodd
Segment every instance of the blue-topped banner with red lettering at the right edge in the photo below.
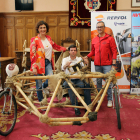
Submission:
M 140 94 L 140 12 L 132 12 L 131 93 Z

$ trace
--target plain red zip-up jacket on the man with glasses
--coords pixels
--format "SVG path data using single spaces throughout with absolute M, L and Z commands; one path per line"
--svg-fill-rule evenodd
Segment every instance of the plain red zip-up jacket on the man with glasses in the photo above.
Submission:
M 116 43 L 113 37 L 105 33 L 104 37 L 95 37 L 92 39 L 91 52 L 87 55 L 95 55 L 94 65 L 105 66 L 112 65 L 112 60 L 117 57 Z

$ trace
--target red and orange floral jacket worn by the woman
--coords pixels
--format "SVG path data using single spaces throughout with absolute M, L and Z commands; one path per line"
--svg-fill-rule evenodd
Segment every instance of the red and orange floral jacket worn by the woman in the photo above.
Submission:
M 52 45 L 53 49 L 57 51 L 66 51 L 65 47 L 61 47 L 56 43 L 54 43 L 51 40 L 50 36 L 46 35 L 46 38 Z M 54 70 L 55 68 L 53 56 L 54 53 L 52 52 L 52 68 Z M 31 60 L 31 68 L 30 68 L 31 71 L 33 71 L 33 69 L 36 68 L 38 74 L 45 74 L 45 51 L 39 35 L 31 38 L 30 60 Z

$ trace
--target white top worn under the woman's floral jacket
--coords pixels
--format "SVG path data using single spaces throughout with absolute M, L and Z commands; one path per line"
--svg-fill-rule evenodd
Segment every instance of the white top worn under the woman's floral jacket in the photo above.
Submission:
M 47 38 L 45 40 L 41 40 L 41 41 L 42 41 L 42 44 L 44 46 L 45 58 L 51 61 L 51 59 L 52 59 L 52 45 L 50 44 L 50 42 L 48 41 Z

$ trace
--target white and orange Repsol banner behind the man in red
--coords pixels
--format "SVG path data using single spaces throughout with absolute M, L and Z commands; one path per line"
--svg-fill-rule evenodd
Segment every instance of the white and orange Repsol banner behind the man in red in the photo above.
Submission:
M 130 92 L 130 57 L 131 57 L 131 12 L 108 11 L 91 13 L 91 38 L 97 36 L 96 24 L 98 21 L 105 23 L 105 31 L 115 39 L 118 55 L 117 61 L 121 62 L 121 72 L 117 72 L 117 85 L 120 92 Z M 92 71 L 94 62 L 91 64 Z M 93 79 L 96 81 L 95 79 Z

